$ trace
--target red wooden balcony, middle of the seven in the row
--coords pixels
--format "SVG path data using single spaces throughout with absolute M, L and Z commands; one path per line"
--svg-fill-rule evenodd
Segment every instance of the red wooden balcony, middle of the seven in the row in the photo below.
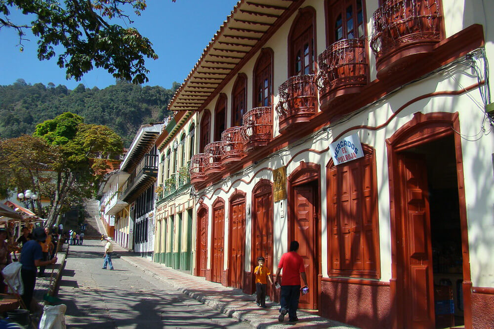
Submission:
M 254 108 L 243 116 L 244 152 L 266 146 L 273 136 L 273 113 L 270 106 Z

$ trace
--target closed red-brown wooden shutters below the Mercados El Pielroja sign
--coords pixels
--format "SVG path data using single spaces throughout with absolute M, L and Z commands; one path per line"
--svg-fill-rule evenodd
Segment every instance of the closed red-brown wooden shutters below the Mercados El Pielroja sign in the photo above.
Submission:
M 330 275 L 379 277 L 374 155 L 366 153 L 328 168 Z

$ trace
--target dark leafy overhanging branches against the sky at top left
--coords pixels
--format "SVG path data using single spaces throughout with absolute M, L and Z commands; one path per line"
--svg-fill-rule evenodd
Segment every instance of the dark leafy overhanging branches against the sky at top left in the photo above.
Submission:
M 172 0 L 175 2 L 175 0 Z M 80 81 L 84 73 L 93 67 L 104 68 L 116 78 L 133 83 L 144 83 L 149 71 L 145 58 L 157 59 L 152 43 L 132 27 L 123 28 L 110 24 L 111 19 L 121 18 L 131 25 L 133 21 L 124 12 L 125 5 L 140 16 L 146 9 L 146 0 L 0 0 L 0 29 L 16 29 L 19 44 L 26 41 L 25 31 L 31 29 L 38 41 L 38 58 L 51 59 L 55 46 L 65 52 L 58 55 L 57 64 L 65 69 L 67 78 Z M 34 15 L 34 21 L 21 24 L 11 20 L 11 11 L 20 10 L 24 15 Z M 21 47 L 22 51 L 22 47 Z

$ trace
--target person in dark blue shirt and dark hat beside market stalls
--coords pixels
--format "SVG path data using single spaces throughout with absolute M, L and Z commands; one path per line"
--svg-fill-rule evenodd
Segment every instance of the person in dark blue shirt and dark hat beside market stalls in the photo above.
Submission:
M 42 260 L 41 243 L 44 241 L 46 241 L 46 233 L 42 227 L 37 227 L 33 231 L 33 240 L 27 241 L 22 247 L 19 261 L 22 264 L 21 279 L 24 284 L 24 294 L 21 297 L 28 310 L 31 309 L 31 300 L 36 286 L 37 266 L 46 266 L 57 261 L 57 257 L 50 260 Z

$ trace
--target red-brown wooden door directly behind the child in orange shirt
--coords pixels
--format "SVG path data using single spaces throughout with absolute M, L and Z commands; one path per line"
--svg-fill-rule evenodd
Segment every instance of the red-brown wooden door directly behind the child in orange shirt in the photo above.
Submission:
M 254 209 L 252 218 L 253 228 L 253 255 L 252 273 L 257 265 L 257 257 L 263 256 L 269 271 L 273 272 L 273 193 L 269 184 L 261 185 L 254 191 Z M 252 276 L 254 279 L 255 276 Z M 268 294 L 273 297 L 271 284 L 268 281 Z

